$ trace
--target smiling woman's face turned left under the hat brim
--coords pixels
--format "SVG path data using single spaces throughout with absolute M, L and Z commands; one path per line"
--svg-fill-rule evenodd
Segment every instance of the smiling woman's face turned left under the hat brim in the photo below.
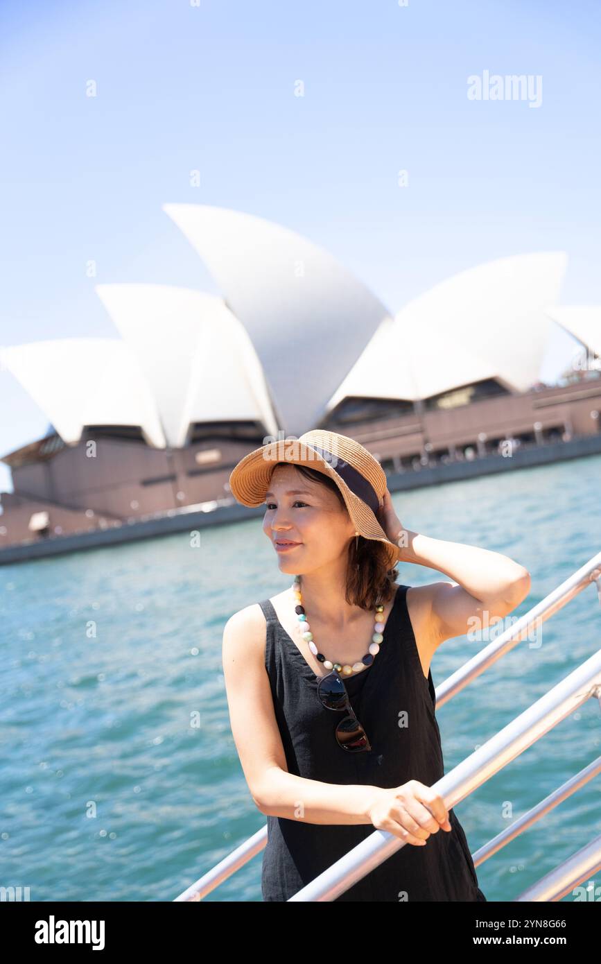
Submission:
M 309 481 L 293 465 L 276 466 L 265 497 L 263 531 L 280 572 L 301 576 L 333 562 L 346 564 L 354 526 L 338 496 Z M 278 541 L 296 545 L 285 549 Z

